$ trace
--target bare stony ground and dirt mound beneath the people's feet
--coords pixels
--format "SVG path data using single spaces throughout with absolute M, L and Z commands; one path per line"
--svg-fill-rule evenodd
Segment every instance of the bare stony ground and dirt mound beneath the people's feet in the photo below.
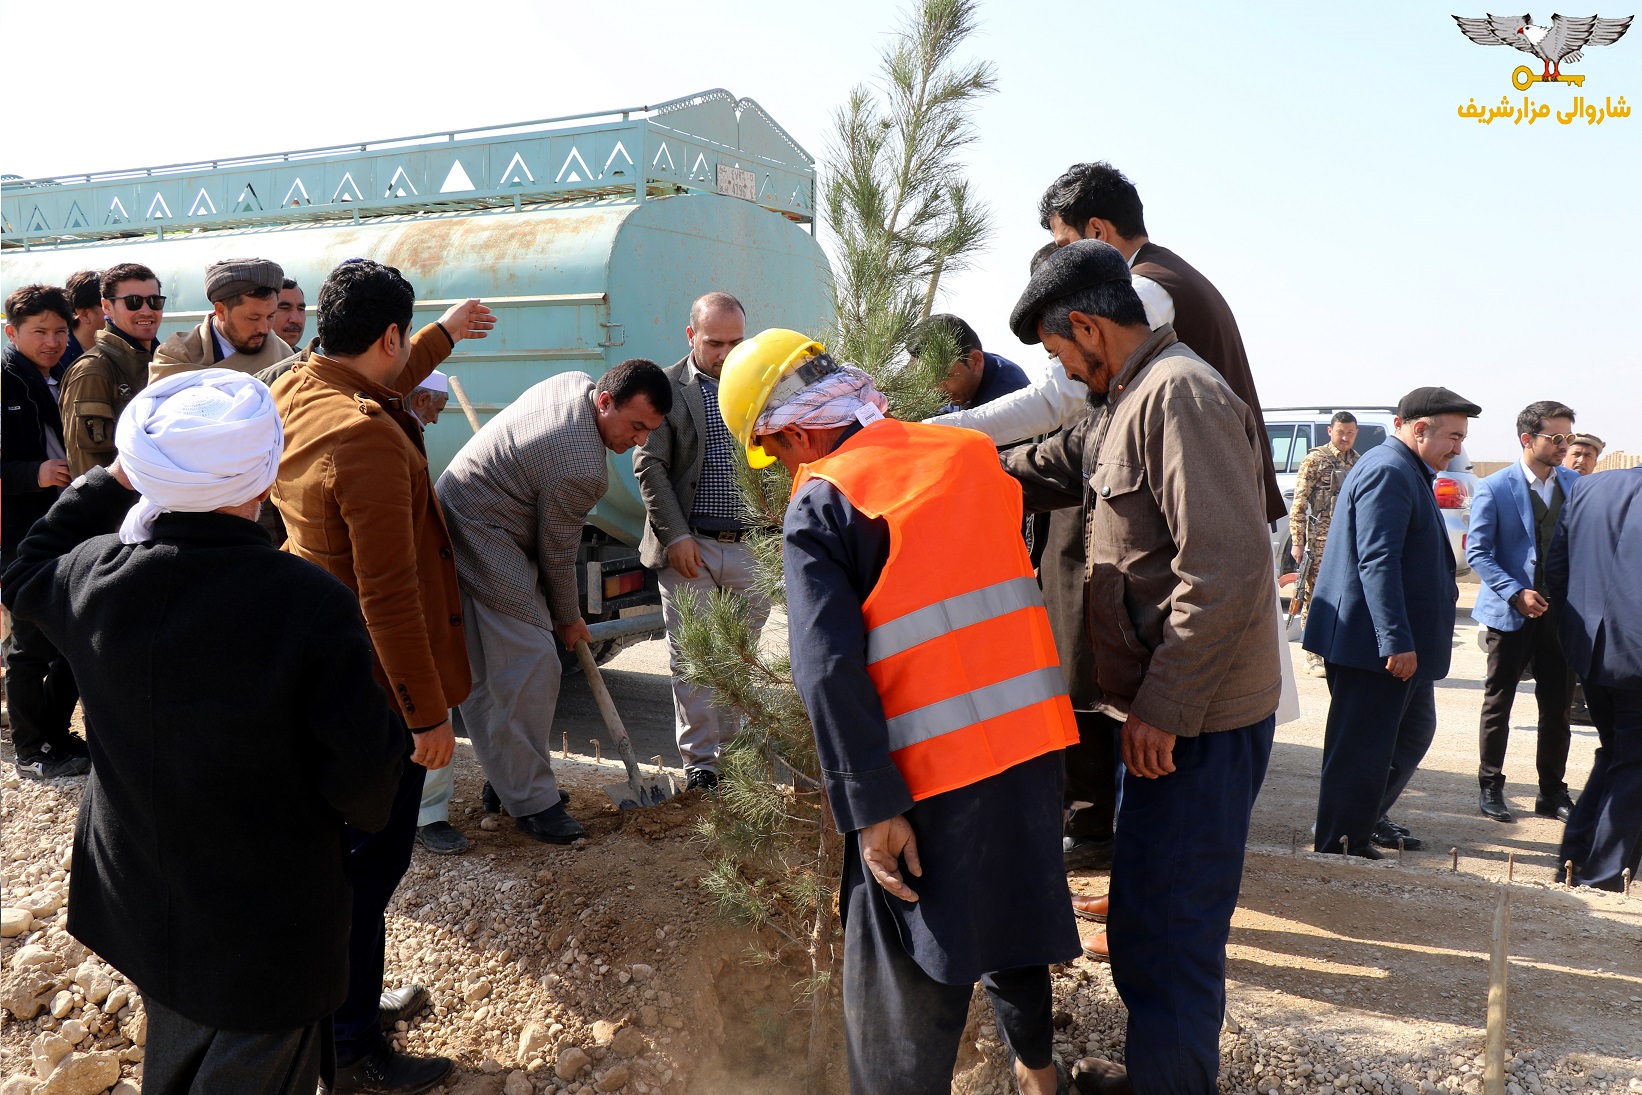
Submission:
M 1456 647 L 1455 676 L 1479 680 L 1479 665 L 1461 657 L 1465 644 Z M 1220 1088 L 1479 1093 L 1506 845 L 1504 827 L 1470 818 L 1478 693 L 1455 694 L 1452 714 L 1440 696 L 1438 744 L 1399 816 L 1442 847 L 1401 865 L 1394 854 L 1381 864 L 1342 860 L 1305 850 L 1300 839 L 1315 804 L 1327 693 L 1304 676 L 1297 650 L 1294 658 L 1305 717 L 1279 727 L 1256 806 L 1228 949 Z M 640 754 L 657 752 L 670 737 L 662 644 L 629 648 L 606 676 Z M 1532 699 L 1524 699 L 1530 712 Z M 583 681 L 566 678 L 560 708 L 555 737 L 604 737 Z M 1532 780 L 1532 734 L 1514 734 L 1514 777 Z M 1576 742 L 1570 758 L 1575 788 L 1589 749 Z M 706 860 L 695 824 L 711 801 L 690 793 L 619 813 L 599 788 L 624 778 L 621 765 L 591 754 L 591 745 L 568 758 L 555 752 L 589 839 L 553 847 L 519 834 L 506 814 L 479 811 L 483 773 L 471 747 L 458 742 L 452 822 L 471 847 L 455 857 L 417 849 L 389 909 L 389 983 L 424 983 L 433 995 L 394 1044 L 453 1057 L 458 1072 L 445 1090 L 466 1095 L 805 1090 L 810 1018 L 791 990 L 803 970 L 750 964 L 755 937 L 719 919 L 699 888 Z M 0 755 L 0 1095 L 131 1095 L 141 1080 L 141 1005 L 133 987 L 64 931 L 82 781 L 20 780 L 10 745 Z M 1519 804 L 1520 788 L 1511 790 Z M 1507 1092 L 1642 1092 L 1642 893 L 1557 885 L 1553 826 L 1524 818 L 1509 834 L 1519 860 Z M 1465 849 L 1458 872 L 1450 842 Z M 1529 854 L 1537 847 L 1550 852 Z M 1079 872 L 1072 887 L 1103 893 L 1107 878 Z M 1107 967 L 1057 967 L 1054 993 L 1062 1057 L 1121 1059 L 1126 1016 Z M 828 1088 L 844 1092 L 836 1011 L 831 1033 Z M 954 1090 L 1011 1093 L 1005 1057 L 977 1005 Z

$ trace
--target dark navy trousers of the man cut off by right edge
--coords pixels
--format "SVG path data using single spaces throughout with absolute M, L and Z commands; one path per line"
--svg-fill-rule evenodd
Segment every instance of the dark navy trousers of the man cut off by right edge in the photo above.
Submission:
M 1562 834 L 1562 860 L 1580 882 L 1619 890 L 1642 864 L 1642 688 L 1585 683 L 1596 722 L 1596 760 Z

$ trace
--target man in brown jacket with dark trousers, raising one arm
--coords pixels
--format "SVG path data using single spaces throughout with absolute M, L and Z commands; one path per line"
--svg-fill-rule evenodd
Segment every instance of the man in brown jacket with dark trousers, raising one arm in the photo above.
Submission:
M 369 259 L 343 263 L 319 292 L 322 350 L 273 386 L 286 428 L 273 489 L 286 522 L 284 547 L 360 598 L 376 680 L 414 742 L 388 827 L 348 831 L 353 932 L 348 998 L 333 1019 L 338 1093 L 425 1092 L 452 1067 L 443 1057 L 394 1052 L 379 1006 L 383 914 L 410 862 L 422 777 L 450 763 L 450 708 L 470 686 L 450 535 L 429 479 L 422 428 L 404 397 L 458 338 L 483 338 L 496 320 L 466 300 L 412 337 L 414 304 L 415 291 L 397 269 Z

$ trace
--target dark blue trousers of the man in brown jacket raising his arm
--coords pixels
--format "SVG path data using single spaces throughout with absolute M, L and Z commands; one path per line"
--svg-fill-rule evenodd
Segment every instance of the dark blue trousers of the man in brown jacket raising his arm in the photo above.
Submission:
M 332 1016 L 338 1067 L 388 1044 L 381 1026 L 383 967 L 388 962 L 386 914 L 388 903 L 410 865 L 425 773 L 422 765 L 406 762 L 392 813 L 381 832 L 348 826 L 348 883 L 353 887 L 348 996 Z

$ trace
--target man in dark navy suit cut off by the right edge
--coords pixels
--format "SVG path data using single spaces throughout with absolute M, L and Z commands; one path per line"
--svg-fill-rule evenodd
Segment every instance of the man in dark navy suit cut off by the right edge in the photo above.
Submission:
M 1642 860 L 1642 468 L 1580 479 L 1545 584 L 1599 742 L 1558 859 L 1581 883 L 1619 890 Z

